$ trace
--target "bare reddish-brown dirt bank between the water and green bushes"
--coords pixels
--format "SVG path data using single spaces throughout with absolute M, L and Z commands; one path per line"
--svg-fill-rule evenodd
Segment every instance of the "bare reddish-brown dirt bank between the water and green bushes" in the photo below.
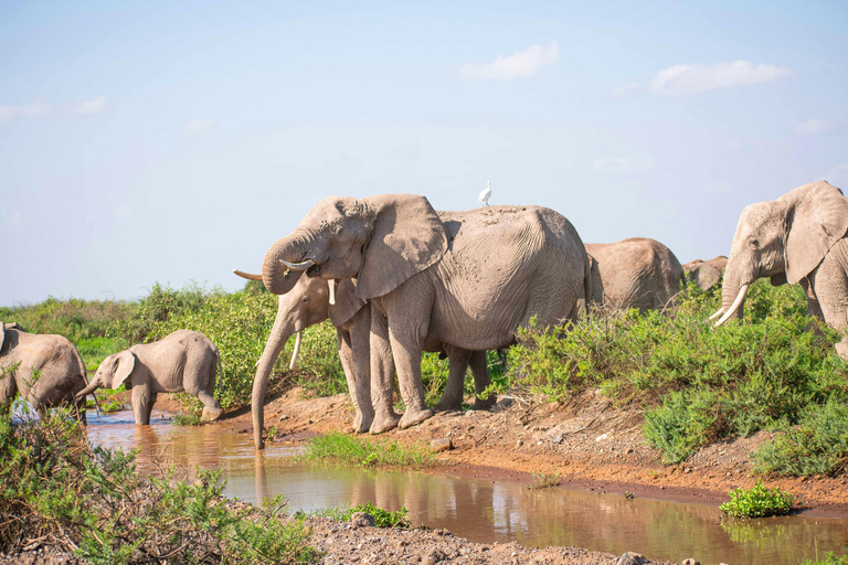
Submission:
M 159 405 L 157 404 L 157 407 Z M 163 406 L 165 407 L 165 406 Z M 274 441 L 303 443 L 326 431 L 348 429 L 347 395 L 301 399 L 292 390 L 265 407 Z M 248 409 L 222 422 L 252 434 Z M 438 455 L 452 473 L 531 482 L 533 472 L 558 472 L 564 488 L 633 492 L 656 500 L 718 505 L 728 491 L 750 488 L 753 450 L 770 435 L 725 440 L 699 449 L 686 463 L 665 466 L 639 431 L 642 416 L 587 392 L 569 404 L 504 398 L 490 412 L 443 412 L 418 426 L 384 436 L 401 441 L 448 438 L 454 449 Z M 808 515 L 848 518 L 846 475 L 837 478 L 763 478 L 767 487 L 792 492 Z

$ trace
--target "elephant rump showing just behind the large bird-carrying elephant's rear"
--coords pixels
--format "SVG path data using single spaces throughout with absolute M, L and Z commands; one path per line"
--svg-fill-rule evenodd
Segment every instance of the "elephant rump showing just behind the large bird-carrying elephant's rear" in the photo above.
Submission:
M 587 243 L 592 263 L 592 301 L 639 313 L 675 305 L 683 268 L 671 249 L 647 237 Z

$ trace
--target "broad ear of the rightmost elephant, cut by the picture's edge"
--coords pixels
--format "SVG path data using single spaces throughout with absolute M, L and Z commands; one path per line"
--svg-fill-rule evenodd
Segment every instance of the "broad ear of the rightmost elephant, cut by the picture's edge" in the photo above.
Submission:
M 826 181 L 812 182 L 784 194 L 786 279 L 796 284 L 815 269 L 848 231 L 848 199 Z

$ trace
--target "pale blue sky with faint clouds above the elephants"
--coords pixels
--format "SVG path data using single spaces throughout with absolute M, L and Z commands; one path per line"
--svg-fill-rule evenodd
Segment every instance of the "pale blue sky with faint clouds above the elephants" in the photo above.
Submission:
M 331 194 L 727 255 L 848 188 L 844 2 L 0 2 L 0 305 L 241 288 Z

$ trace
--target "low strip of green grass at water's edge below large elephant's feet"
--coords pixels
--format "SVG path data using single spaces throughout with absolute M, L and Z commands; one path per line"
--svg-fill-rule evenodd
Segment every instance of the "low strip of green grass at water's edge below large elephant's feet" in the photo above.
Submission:
M 433 467 L 435 458 L 428 446 L 404 445 L 390 439 L 370 440 L 346 434 L 327 434 L 312 438 L 307 459 L 331 460 L 361 467 Z

